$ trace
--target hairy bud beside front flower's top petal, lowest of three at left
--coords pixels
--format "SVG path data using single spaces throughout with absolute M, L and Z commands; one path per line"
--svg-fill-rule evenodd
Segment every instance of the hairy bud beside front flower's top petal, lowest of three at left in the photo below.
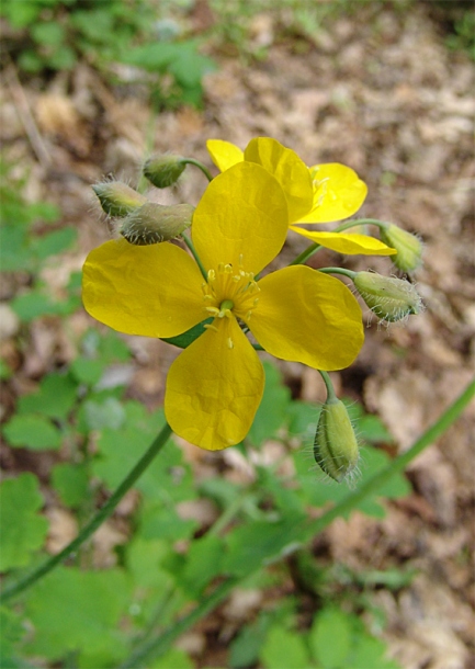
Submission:
M 191 226 L 194 207 L 190 204 L 162 205 L 147 202 L 123 218 L 118 233 L 135 246 L 169 241 Z

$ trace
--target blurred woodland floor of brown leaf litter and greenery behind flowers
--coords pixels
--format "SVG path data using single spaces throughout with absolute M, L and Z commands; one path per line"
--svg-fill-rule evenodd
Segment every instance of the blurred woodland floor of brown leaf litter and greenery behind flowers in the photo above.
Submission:
M 370 444 L 363 476 L 463 389 L 475 330 L 472 2 L 3 0 L 0 16 L 1 465 L 16 486 L 4 515 L 25 529 L 22 540 L 7 530 L 8 575 L 66 545 L 161 424 L 178 349 L 111 332 L 80 302 L 83 260 L 111 237 L 91 184 L 114 174 L 136 186 L 155 151 L 215 173 L 207 138 L 245 148 L 271 136 L 309 166 L 353 168 L 369 186 L 359 215 L 423 239 L 426 313 L 389 329 L 367 318 L 360 358 L 331 375 Z M 205 186 L 189 168 L 150 196 L 195 205 Z M 306 246 L 296 237 L 284 264 Z M 338 263 L 394 271 L 326 250 L 310 261 Z M 120 666 L 226 571 L 211 566 L 220 544 L 200 540 L 245 555 L 265 523 L 341 497 L 312 469 L 318 373 L 272 365 L 242 447 L 177 440 L 68 567 L 5 610 L 2 667 Z M 230 597 L 167 655 L 127 666 L 473 667 L 471 427 L 473 407 L 385 501 L 273 567 L 248 574 L 237 551 Z

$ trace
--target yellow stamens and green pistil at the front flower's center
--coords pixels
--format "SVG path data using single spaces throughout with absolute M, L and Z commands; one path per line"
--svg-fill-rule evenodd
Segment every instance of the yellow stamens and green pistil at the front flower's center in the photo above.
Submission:
M 253 273 L 244 269 L 242 257 L 237 269 L 219 263 L 217 270 L 210 270 L 202 290 L 206 315 L 214 318 L 235 316 L 248 321 L 259 302 L 260 288 Z

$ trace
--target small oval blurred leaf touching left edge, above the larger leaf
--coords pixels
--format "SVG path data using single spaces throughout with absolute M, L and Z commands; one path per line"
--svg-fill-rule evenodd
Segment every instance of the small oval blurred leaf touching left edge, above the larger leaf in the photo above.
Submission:
M 13 416 L 2 431 L 9 444 L 16 447 L 57 451 L 61 445 L 61 432 L 44 416 Z

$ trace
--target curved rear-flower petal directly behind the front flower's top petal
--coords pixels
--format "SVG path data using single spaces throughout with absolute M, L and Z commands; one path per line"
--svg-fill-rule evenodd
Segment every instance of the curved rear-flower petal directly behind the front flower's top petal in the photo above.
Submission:
M 289 205 L 289 220 L 298 220 L 313 204 L 312 177 L 307 166 L 292 149 L 271 137 L 251 139 L 245 160 L 261 165 L 281 184 Z

